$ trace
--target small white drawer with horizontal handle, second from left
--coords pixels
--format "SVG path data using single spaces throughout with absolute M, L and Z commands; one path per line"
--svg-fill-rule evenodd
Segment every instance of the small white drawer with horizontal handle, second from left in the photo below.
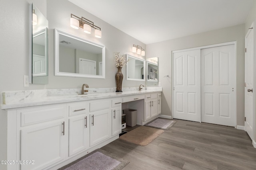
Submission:
M 80 115 L 84 113 L 89 112 L 89 103 L 88 102 L 82 102 L 82 103 L 74 103 L 68 105 L 68 115 L 74 116 L 74 115 Z

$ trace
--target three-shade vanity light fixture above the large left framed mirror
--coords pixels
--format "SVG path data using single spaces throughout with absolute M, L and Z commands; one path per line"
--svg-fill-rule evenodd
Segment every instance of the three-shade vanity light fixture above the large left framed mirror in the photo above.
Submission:
M 92 33 L 92 28 L 94 28 L 94 36 L 97 38 L 101 38 L 101 29 L 100 27 L 94 25 L 94 23 L 90 20 L 87 20 L 84 17 L 79 18 L 78 16 L 75 16 L 74 14 L 71 14 L 70 18 L 70 27 L 74 29 L 83 28 L 85 33 Z

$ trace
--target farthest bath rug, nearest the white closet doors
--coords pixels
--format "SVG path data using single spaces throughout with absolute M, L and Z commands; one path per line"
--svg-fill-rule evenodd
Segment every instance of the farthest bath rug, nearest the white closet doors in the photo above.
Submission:
M 176 121 L 172 120 L 172 119 L 157 118 L 157 119 L 147 123 L 145 126 L 169 130 L 175 123 L 176 123 Z

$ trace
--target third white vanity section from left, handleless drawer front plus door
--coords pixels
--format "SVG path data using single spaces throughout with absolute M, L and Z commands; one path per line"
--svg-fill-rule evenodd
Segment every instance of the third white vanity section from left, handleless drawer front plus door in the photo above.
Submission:
M 111 137 L 110 101 L 90 102 L 90 147 Z

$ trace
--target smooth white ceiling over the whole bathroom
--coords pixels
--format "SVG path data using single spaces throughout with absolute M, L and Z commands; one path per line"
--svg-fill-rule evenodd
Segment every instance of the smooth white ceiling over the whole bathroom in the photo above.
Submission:
M 69 1 L 150 44 L 245 23 L 254 0 Z

